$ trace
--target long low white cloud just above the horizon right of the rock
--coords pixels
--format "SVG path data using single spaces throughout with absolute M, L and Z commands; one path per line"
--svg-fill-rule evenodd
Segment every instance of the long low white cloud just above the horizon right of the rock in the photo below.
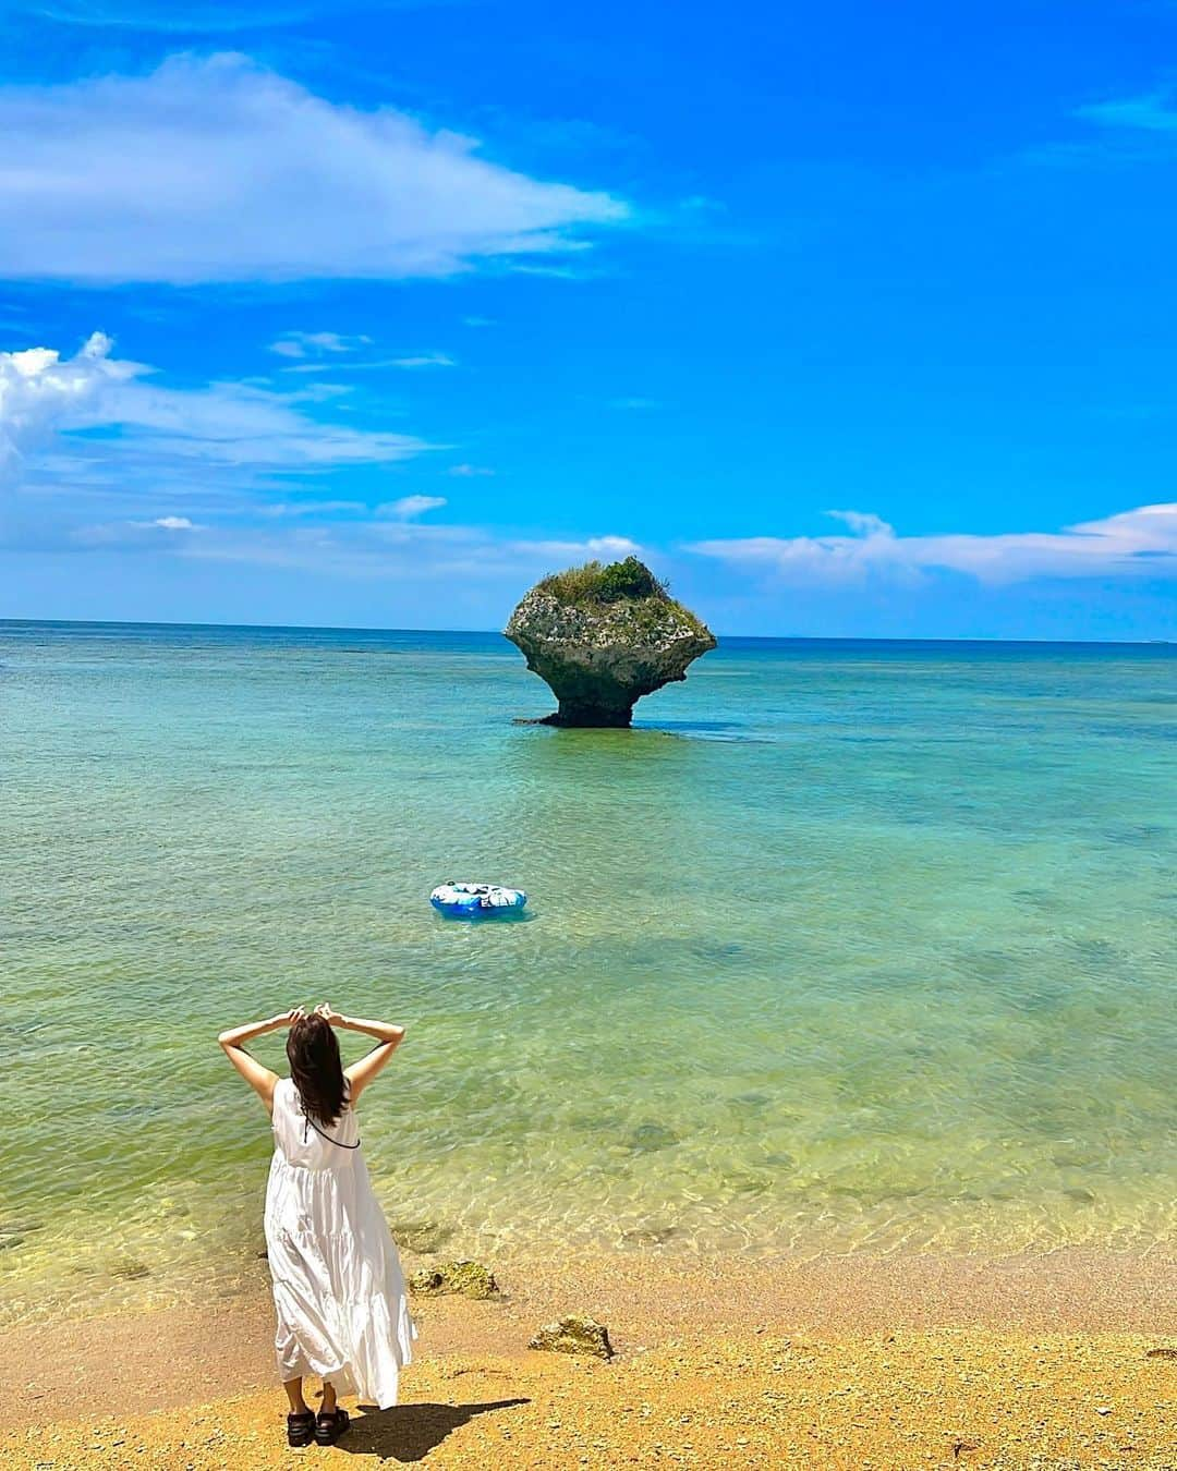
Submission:
M 981 583 L 1034 577 L 1171 577 L 1177 574 L 1177 502 L 1139 506 L 1062 531 L 903 537 L 868 512 L 834 510 L 855 535 L 744 537 L 687 550 L 796 581 L 871 574 L 962 572 Z

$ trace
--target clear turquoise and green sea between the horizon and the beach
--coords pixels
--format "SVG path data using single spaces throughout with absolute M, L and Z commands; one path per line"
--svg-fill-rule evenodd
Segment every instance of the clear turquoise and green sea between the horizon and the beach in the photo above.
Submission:
M 731 638 L 633 731 L 552 705 L 494 634 L 0 624 L 9 1319 L 257 1274 L 216 1033 L 324 999 L 408 1024 L 409 1246 L 1173 1242 L 1177 647 Z

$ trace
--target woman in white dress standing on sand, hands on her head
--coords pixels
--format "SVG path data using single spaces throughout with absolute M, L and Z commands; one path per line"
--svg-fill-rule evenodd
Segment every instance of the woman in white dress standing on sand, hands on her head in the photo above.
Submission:
M 290 1077 L 263 1068 L 243 1043 L 288 1027 Z M 335 1028 L 362 1031 L 377 1046 L 344 1068 Z M 278 1372 L 290 1399 L 287 1440 L 330 1446 L 347 1428 L 337 1395 L 381 1409 L 396 1403 L 397 1375 L 416 1337 L 400 1258 L 372 1194 L 360 1153 L 356 1103 L 405 1036 L 384 1021 L 340 1016 L 324 1002 L 222 1031 L 225 1056 L 274 1119 L 266 1189 L 266 1249 L 274 1278 Z M 303 1378 L 322 1378 L 318 1417 Z

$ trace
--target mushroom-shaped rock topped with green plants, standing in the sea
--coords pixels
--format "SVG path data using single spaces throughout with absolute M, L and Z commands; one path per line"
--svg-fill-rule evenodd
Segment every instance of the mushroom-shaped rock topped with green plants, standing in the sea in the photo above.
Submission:
M 706 624 L 633 556 L 546 577 L 506 637 L 559 700 L 549 725 L 628 725 L 643 694 L 686 680 L 687 665 L 715 647 Z

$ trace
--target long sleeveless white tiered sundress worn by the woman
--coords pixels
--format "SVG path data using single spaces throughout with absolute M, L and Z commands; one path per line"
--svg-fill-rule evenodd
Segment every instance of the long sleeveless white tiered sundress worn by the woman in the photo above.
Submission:
M 340 1395 L 394 1405 L 416 1328 L 356 1115 L 309 1119 L 291 1078 L 274 1089 L 265 1227 L 282 1380 L 318 1374 Z

